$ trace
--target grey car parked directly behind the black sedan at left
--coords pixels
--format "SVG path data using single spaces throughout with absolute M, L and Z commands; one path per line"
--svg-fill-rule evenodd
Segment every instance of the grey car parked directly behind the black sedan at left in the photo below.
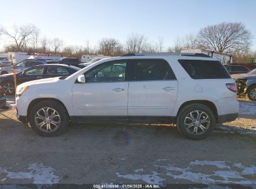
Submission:
M 44 59 L 37 59 L 37 60 L 26 59 L 26 60 L 23 60 L 22 62 L 16 63 L 14 65 L 14 68 L 16 70 L 16 73 L 19 73 L 21 71 L 27 70 L 28 68 L 35 67 L 37 65 L 47 64 L 47 63 L 48 63 L 47 60 L 44 60 Z M 0 68 L 0 75 L 12 73 L 12 71 L 13 71 L 12 67 L 3 67 L 3 68 Z

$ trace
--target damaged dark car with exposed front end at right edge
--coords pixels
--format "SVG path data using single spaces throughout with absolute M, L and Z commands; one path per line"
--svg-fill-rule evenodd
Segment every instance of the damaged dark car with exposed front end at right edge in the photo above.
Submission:
M 256 101 L 256 69 L 249 73 L 232 75 L 237 83 L 237 94 L 246 95 L 252 101 Z

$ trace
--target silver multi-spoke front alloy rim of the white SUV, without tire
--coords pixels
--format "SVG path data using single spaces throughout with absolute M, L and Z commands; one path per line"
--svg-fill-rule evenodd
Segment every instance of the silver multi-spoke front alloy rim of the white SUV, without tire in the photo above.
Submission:
M 53 108 L 41 108 L 35 115 L 35 123 L 41 131 L 54 132 L 60 126 L 60 115 Z

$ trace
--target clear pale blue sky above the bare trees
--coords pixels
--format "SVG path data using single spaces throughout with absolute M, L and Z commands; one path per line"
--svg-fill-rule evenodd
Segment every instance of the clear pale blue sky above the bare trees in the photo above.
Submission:
M 97 47 L 108 37 L 125 43 L 131 33 L 149 42 L 174 45 L 178 37 L 197 34 L 207 25 L 242 22 L 256 50 L 255 0 L 0 0 L 0 25 L 34 24 L 40 36 L 59 37 L 65 45 Z M 6 42 L 0 39 L 0 48 Z

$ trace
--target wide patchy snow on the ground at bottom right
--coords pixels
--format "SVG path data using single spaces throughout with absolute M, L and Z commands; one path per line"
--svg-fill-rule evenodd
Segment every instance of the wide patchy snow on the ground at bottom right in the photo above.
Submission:
M 121 175 L 116 173 L 117 177 L 122 177 L 130 180 L 143 180 L 148 184 L 163 185 L 163 181 L 166 180 L 166 176 L 169 176 L 170 180 L 183 179 L 193 183 L 211 184 L 240 184 L 240 185 L 252 185 L 256 184 L 256 177 L 248 178 L 246 175 L 256 176 L 256 166 L 250 165 L 245 167 L 240 163 L 232 163 L 227 161 L 209 161 L 209 160 L 195 160 L 190 162 L 186 168 L 175 167 L 172 164 L 158 165 L 157 162 L 163 160 L 156 160 L 154 167 L 161 168 L 161 173 L 152 171 L 151 174 L 143 174 L 143 170 L 136 169 L 136 174 Z M 194 165 L 202 165 L 201 171 L 195 169 Z M 214 167 L 209 167 L 214 165 Z M 240 170 L 237 170 L 239 168 Z M 140 174 L 138 172 L 140 171 Z

